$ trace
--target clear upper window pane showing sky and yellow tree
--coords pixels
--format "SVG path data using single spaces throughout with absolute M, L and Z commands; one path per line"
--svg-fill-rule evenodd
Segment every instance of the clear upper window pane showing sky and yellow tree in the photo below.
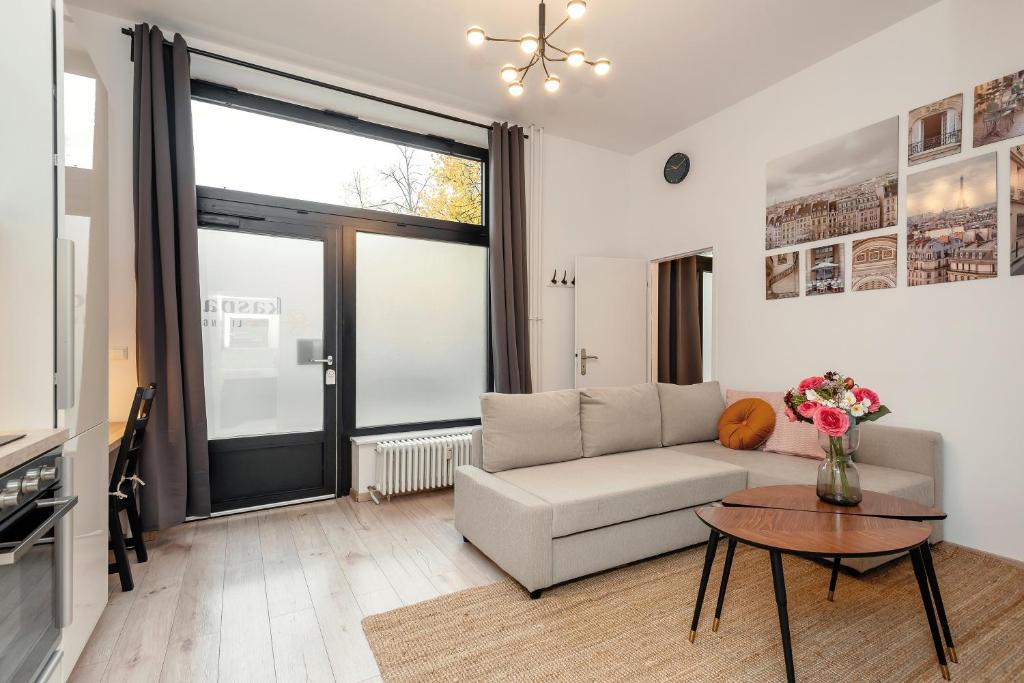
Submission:
M 193 127 L 200 185 L 483 224 L 479 159 L 198 100 Z

